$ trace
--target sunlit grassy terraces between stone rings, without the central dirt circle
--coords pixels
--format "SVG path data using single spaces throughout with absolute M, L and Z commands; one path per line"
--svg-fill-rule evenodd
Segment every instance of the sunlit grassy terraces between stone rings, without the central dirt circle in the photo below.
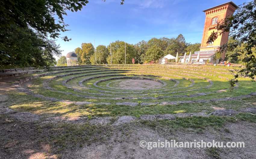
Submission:
M 63 101 L 88 101 L 92 102 L 92 104 L 67 105 L 62 102 L 54 102 L 54 104 L 46 104 L 47 106 L 43 104 L 44 106 L 38 107 L 38 105 L 41 105 L 39 104 L 40 102 L 38 102 L 38 104 L 15 104 L 12 108 L 15 110 L 33 111 L 39 114 L 64 115 L 66 117 L 122 115 L 138 117 L 142 114 L 200 112 L 202 110 L 212 111 L 211 106 L 209 106 L 211 104 L 151 104 L 148 106 L 141 106 L 141 103 L 195 101 L 234 97 L 247 95 L 254 92 L 256 88 L 256 84 L 251 82 L 249 79 L 240 79 L 239 88 L 230 92 L 228 79 L 231 79 L 232 76 L 228 74 L 229 70 L 226 67 L 184 65 L 101 65 L 76 68 L 58 68 L 55 69 L 54 72 L 55 74 L 43 76 L 31 80 L 28 83 L 24 83 L 23 87 L 30 89 L 34 94 L 44 95 L 45 97 L 53 97 Z M 66 74 L 67 76 L 48 81 L 55 76 Z M 115 88 L 117 86 L 116 84 L 122 80 L 107 80 L 114 77 L 125 76 L 161 80 L 166 83 L 166 86 L 149 90 L 124 90 L 119 87 Z M 72 77 L 75 78 L 71 79 Z M 91 79 L 85 80 L 83 82 L 83 87 L 80 86 L 79 81 L 87 78 Z M 178 83 L 173 80 L 168 80 L 167 78 L 176 80 Z M 66 85 L 63 85 L 63 81 L 65 80 L 69 81 L 67 81 Z M 95 82 L 100 80 L 107 81 L 98 83 L 97 87 L 93 85 Z M 48 86 L 51 89 L 46 89 L 44 87 L 44 81 L 48 82 Z M 111 86 L 111 88 L 109 86 Z M 150 87 L 150 85 L 148 86 Z M 12 95 L 17 98 L 18 96 L 20 96 L 20 98 L 34 98 L 24 93 Z M 35 98 L 35 101 L 37 100 L 40 99 Z M 52 103 L 51 101 L 44 102 Z M 138 103 L 138 105 L 117 105 L 117 102 L 133 102 Z M 234 101 L 227 102 L 232 104 Z

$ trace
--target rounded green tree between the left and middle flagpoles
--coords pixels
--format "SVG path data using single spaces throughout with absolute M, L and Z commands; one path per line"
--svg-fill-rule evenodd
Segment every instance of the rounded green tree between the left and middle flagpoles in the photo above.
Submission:
M 108 48 L 105 45 L 98 45 L 96 47 L 97 64 L 107 64 L 108 54 Z M 92 64 L 96 64 L 95 55 L 91 55 L 90 61 Z

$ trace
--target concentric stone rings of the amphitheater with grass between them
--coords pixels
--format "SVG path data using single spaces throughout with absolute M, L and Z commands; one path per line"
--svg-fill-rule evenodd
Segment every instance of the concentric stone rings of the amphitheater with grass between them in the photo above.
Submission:
M 183 65 L 97 65 L 55 67 L 52 73 L 42 73 L 19 81 L 19 91 L 52 100 L 71 101 L 78 105 L 174 105 L 246 98 L 254 94 L 228 92 L 232 78 L 224 68 Z M 36 79 L 37 87 L 27 81 Z M 152 81 L 151 85 L 133 86 L 126 81 Z M 115 85 L 115 82 L 121 85 Z M 127 83 L 127 85 L 126 85 Z M 245 83 L 248 83 L 247 81 Z M 242 83 L 244 90 L 245 84 Z M 145 88 L 143 88 L 145 87 Z M 240 91 L 243 92 L 243 91 Z

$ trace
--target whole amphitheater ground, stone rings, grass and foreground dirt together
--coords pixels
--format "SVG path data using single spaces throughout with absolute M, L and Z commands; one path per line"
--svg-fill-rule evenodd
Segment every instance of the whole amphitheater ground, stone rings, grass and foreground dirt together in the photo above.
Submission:
M 179 138 L 253 145 L 256 84 L 239 78 L 230 91 L 232 69 L 239 67 L 112 64 L 3 70 L 0 154 L 216 158 L 215 150 L 207 148 L 155 149 L 148 157 L 153 151 L 138 144 Z M 220 156 L 255 157 L 253 146 L 222 151 Z

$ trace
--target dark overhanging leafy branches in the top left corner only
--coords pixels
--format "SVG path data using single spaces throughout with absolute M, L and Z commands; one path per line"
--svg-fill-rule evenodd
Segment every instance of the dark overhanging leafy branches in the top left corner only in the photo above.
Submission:
M 60 35 L 60 31 L 67 31 L 65 27 L 68 25 L 64 23 L 63 18 L 63 15 L 67 15 L 66 11 L 81 11 L 88 2 L 88 0 L 2 0 L 0 2 L 1 39 L 4 38 L 3 41 L 8 39 L 5 31 L 13 26 L 23 29 L 32 27 L 45 37 L 49 34 L 50 37 L 56 38 Z M 58 17 L 58 23 L 54 16 Z M 63 39 L 69 40 L 67 37 Z

